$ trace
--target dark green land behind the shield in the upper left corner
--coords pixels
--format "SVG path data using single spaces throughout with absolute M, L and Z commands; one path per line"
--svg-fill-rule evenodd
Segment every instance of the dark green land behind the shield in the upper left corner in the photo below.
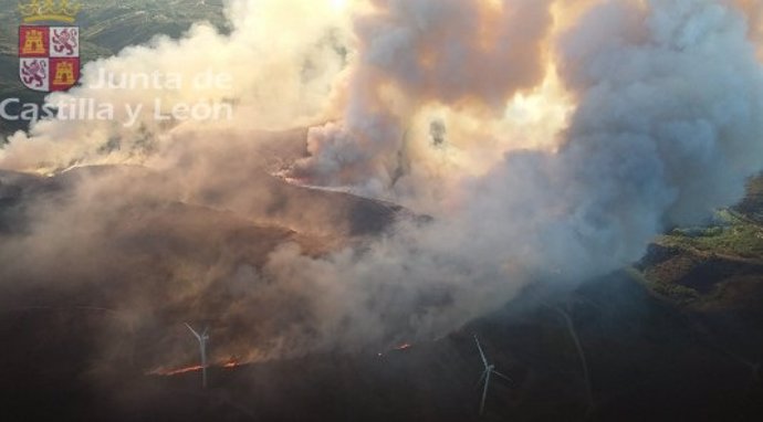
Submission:
M 195 22 L 210 22 L 229 30 L 223 0 L 82 0 L 76 24 L 82 29 L 83 63 L 142 44 L 158 34 L 179 38 Z M 44 94 L 25 89 L 19 82 L 17 0 L 0 0 L 0 99 L 19 97 L 41 104 Z M 0 122 L 0 137 L 24 129 L 22 123 Z

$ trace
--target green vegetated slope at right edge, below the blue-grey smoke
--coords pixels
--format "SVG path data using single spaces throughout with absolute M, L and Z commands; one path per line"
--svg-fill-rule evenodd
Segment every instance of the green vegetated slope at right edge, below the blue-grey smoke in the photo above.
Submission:
M 763 179 L 705 226 L 657 239 L 638 268 L 646 285 L 690 309 L 763 305 Z

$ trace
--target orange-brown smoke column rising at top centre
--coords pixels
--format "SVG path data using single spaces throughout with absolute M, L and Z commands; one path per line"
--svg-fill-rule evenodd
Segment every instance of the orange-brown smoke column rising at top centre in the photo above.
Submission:
M 391 188 L 404 138 L 428 103 L 501 113 L 543 78 L 548 0 L 375 0 L 355 21 L 358 57 L 343 119 L 313 127 L 295 176 L 379 194 Z

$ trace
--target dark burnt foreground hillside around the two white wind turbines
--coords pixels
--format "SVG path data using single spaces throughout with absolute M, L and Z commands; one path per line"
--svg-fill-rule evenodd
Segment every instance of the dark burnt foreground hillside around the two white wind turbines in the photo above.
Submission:
M 65 201 L 83 178 L 125 172 L 157 178 L 108 167 L 55 178 L 0 175 L 4 241 L 25 230 L 25 204 Z M 338 243 L 326 243 L 300 233 L 296 220 L 292 230 L 215 208 L 130 199 L 101 250 L 79 245 L 52 264 L 6 268 L 3 277 L 19 283 L 4 284 L 1 296 L 0 339 L 13 345 L 0 359 L 4 420 L 475 421 L 481 363 L 472 334 L 513 380 L 493 383 L 482 420 L 715 421 L 733 412 L 732 420 L 753 421 L 763 414 L 763 334 L 755 329 L 763 321 L 763 266 L 751 210 L 665 235 L 638 270 L 574 289 L 535 284 L 445 338 L 399 350 L 294 350 L 249 363 L 259 331 L 251 315 L 224 310 L 244 305 L 237 292 L 245 287 L 226 275 L 229 264 L 259 267 L 283 242 L 323 254 L 389 221 L 379 213 L 389 210 L 384 204 L 273 183 L 290 201 L 327 200 L 380 225 L 339 230 Z M 116 246 L 118 259 L 104 259 Z M 77 264 L 88 260 L 98 264 Z M 62 262 L 67 266 L 56 266 Z M 60 288 L 36 279 L 53 270 L 48 265 Z M 178 300 L 168 288 L 187 293 Z M 135 306 L 151 317 L 123 314 Z M 199 389 L 198 371 L 170 374 L 196 365 L 181 321 L 199 318 L 215 339 L 209 391 Z

